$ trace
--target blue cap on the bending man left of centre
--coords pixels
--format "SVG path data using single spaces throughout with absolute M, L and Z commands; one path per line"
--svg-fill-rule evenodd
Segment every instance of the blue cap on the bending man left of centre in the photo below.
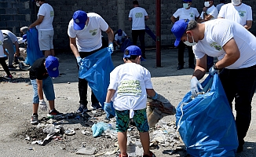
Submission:
M 75 11 L 73 15 L 74 29 L 82 30 L 86 25 L 87 13 L 82 10 Z

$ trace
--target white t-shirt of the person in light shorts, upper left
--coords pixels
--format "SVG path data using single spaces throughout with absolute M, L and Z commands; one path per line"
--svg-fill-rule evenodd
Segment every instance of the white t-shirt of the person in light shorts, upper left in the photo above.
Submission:
M 42 15 L 44 17 L 42 23 L 38 24 L 36 28 L 38 30 L 53 30 L 53 7 L 48 3 L 43 3 L 38 10 L 38 16 L 39 15 Z

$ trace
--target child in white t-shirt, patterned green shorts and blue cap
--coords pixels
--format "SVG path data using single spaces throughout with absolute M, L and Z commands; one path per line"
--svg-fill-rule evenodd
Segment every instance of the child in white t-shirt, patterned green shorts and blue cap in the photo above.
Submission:
M 153 89 L 150 72 L 140 65 L 142 60 L 144 58 L 141 57 L 141 49 L 137 46 L 128 46 L 123 55 L 125 64 L 119 65 L 110 73 L 104 109 L 110 108 L 112 100 L 121 152 L 119 157 L 128 156 L 126 153 L 126 131 L 129 127 L 129 119 L 133 119 L 140 132 L 141 144 L 144 149 L 143 156 L 155 156 L 149 151 L 146 103 L 147 94 L 154 100 L 157 99 L 158 94 Z

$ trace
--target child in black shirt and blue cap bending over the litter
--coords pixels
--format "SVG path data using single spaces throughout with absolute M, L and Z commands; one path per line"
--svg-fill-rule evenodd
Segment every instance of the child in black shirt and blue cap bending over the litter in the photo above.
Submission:
M 56 57 L 48 56 L 35 60 L 34 64 L 29 70 L 29 77 L 31 85 L 34 89 L 33 97 L 33 115 L 31 116 L 31 124 L 38 124 L 38 107 L 42 111 L 47 111 L 46 101 L 43 93 L 49 101 L 49 118 L 54 118 L 63 115 L 55 109 L 54 99 L 55 93 L 53 89 L 53 82 L 51 77 L 57 78 L 59 76 L 59 61 Z

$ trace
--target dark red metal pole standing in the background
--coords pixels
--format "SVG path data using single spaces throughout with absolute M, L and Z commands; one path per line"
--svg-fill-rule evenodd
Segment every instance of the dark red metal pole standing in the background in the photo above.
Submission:
M 161 0 L 156 0 L 156 67 L 161 67 Z

